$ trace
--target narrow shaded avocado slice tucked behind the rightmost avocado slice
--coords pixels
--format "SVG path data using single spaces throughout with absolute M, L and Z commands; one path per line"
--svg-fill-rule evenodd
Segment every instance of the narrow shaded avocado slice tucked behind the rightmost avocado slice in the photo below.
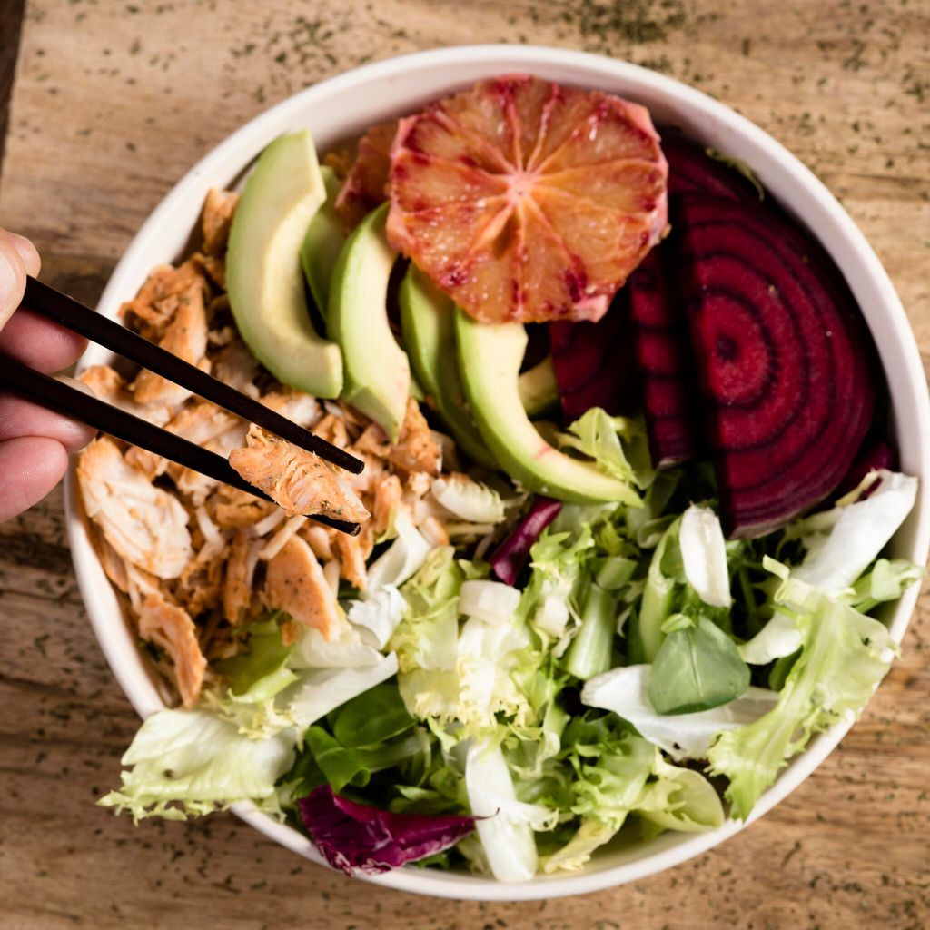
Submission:
M 497 462 L 474 425 L 456 360 L 455 304 L 415 265 L 401 282 L 401 328 L 414 374 L 465 454 L 488 468 Z

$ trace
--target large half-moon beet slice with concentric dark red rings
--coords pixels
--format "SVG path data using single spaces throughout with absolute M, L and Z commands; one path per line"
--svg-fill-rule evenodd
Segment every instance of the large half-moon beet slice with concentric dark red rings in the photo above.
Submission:
M 683 194 L 676 212 L 724 531 L 762 536 L 849 470 L 874 405 L 869 339 L 817 246 L 771 211 Z

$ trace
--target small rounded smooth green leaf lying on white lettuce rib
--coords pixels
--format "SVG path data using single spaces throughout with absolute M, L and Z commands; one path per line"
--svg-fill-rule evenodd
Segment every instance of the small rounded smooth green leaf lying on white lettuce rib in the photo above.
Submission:
M 695 713 L 727 704 L 750 684 L 750 668 L 729 636 L 706 617 L 670 633 L 652 663 L 649 701 L 658 713 Z

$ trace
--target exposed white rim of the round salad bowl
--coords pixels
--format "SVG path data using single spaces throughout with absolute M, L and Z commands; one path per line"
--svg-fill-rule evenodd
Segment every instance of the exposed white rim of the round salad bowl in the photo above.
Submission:
M 897 363 L 895 368 L 896 383 L 901 386 L 900 390 L 902 392 L 910 392 L 910 396 L 906 398 L 910 405 L 910 416 L 905 418 L 905 421 L 910 429 L 916 426 L 915 432 L 918 437 L 915 457 L 908 463 L 910 465 L 908 470 L 910 473 L 918 475 L 921 479 L 921 487 L 918 501 L 909 519 L 910 545 L 907 546 L 907 554 L 914 561 L 922 565 L 925 564 L 928 548 L 930 548 L 930 496 L 927 495 L 924 488 L 927 486 L 928 477 L 930 477 L 930 453 L 924 453 L 923 449 L 930 449 L 930 397 L 927 394 L 923 365 L 910 330 L 910 324 L 894 286 L 884 271 L 880 260 L 868 244 L 863 233 L 857 228 L 854 220 L 840 206 L 826 186 L 784 146 L 764 132 L 761 127 L 756 126 L 746 117 L 736 113 L 723 103 L 713 100 L 694 87 L 684 85 L 664 74 L 649 71 L 630 62 L 612 60 L 573 49 L 549 46 L 512 46 L 506 44 L 449 46 L 365 64 L 309 86 L 286 98 L 286 100 L 280 101 L 263 113 L 259 113 L 245 125 L 235 130 L 211 149 L 209 153 L 206 153 L 166 193 L 126 247 L 126 251 L 114 268 L 110 280 L 100 297 L 98 310 L 113 316 L 121 300 L 129 293 L 129 286 L 132 283 L 137 286 L 141 283 L 138 271 L 134 266 L 144 269 L 145 273 L 151 269 L 151 259 L 148 259 L 148 264 L 146 264 L 146 256 L 149 253 L 150 246 L 159 238 L 159 234 L 173 210 L 179 204 L 189 202 L 192 193 L 202 192 L 205 179 L 210 178 L 211 175 L 215 176 L 219 166 L 228 160 L 230 153 L 236 153 L 237 157 L 241 154 L 241 160 L 238 164 L 240 170 L 242 170 L 274 136 L 282 131 L 282 127 L 291 126 L 295 122 L 295 117 L 298 118 L 297 121 L 299 122 L 299 114 L 306 113 L 314 103 L 324 100 L 327 95 L 336 96 L 350 90 L 358 91 L 365 86 L 372 86 L 379 82 L 390 82 L 401 74 L 430 72 L 443 66 L 466 70 L 473 70 L 474 67 L 477 67 L 483 71 L 485 76 L 515 70 L 545 73 L 547 70 L 561 69 L 578 74 L 578 83 L 588 84 L 589 86 L 599 86 L 599 81 L 610 81 L 611 79 L 620 84 L 638 86 L 668 100 L 673 100 L 676 104 L 692 112 L 696 117 L 710 120 L 715 125 L 722 126 L 727 131 L 732 132 L 734 139 L 743 140 L 751 148 L 758 150 L 760 153 L 766 153 L 771 170 L 780 170 L 783 174 L 781 182 L 797 193 L 799 203 L 805 203 L 804 209 L 799 209 L 797 212 L 804 213 L 806 210 L 810 216 L 816 216 L 817 219 L 823 220 L 830 234 L 835 237 L 834 243 L 830 244 L 824 241 L 823 236 L 818 234 L 821 243 L 834 255 L 837 263 L 841 267 L 846 266 L 843 270 L 850 282 L 850 286 L 853 287 L 854 291 L 857 290 L 850 280 L 850 274 L 858 268 L 859 277 L 857 280 L 862 287 L 868 285 L 867 289 L 873 292 L 871 296 L 874 302 L 870 303 L 869 306 L 863 305 L 863 311 L 866 313 L 870 327 L 874 328 L 876 321 L 883 321 L 887 324 L 886 335 L 883 339 L 876 336 L 875 342 L 880 352 L 883 352 L 883 348 L 888 348 L 889 352 L 893 351 L 897 356 L 895 359 Z M 464 81 L 464 83 L 468 83 L 468 81 Z M 435 96 L 435 94 L 433 93 L 432 96 Z M 633 92 L 632 96 L 635 96 L 635 92 Z M 762 172 L 760 173 L 762 174 Z M 781 196 L 779 199 L 783 200 L 784 198 Z M 843 246 L 849 252 L 849 257 L 844 263 L 840 262 L 835 255 L 835 249 L 839 246 Z M 92 357 L 93 350 L 88 354 Z M 85 356 L 85 360 L 82 360 L 82 365 L 88 364 L 86 359 L 87 356 Z M 883 358 L 883 367 L 885 372 L 889 373 L 890 369 L 884 363 L 885 359 Z M 892 380 L 891 375 L 888 374 L 889 385 L 891 385 Z M 900 413 L 896 407 L 896 422 Z M 899 429 L 897 432 L 898 435 L 901 434 Z M 902 467 L 904 467 L 903 463 Z M 100 604 L 100 578 L 103 576 L 99 560 L 90 547 L 87 536 L 86 521 L 79 506 L 73 464 L 66 476 L 65 511 L 75 575 L 88 618 L 108 664 L 123 688 L 126 697 L 140 713 L 140 716 L 145 717 L 163 706 L 163 704 L 151 681 L 142 681 L 138 673 L 130 674 L 129 671 L 126 671 L 125 663 L 128 655 L 126 640 L 131 639 L 131 637 L 125 629 L 122 641 L 118 636 L 113 636 L 117 621 L 114 618 L 112 605 Z M 106 583 L 109 585 L 109 582 Z M 890 630 L 897 642 L 900 642 L 908 626 L 910 615 L 917 600 L 918 590 L 919 585 L 917 583 L 911 585 L 894 608 L 894 617 L 890 623 Z M 122 624 L 123 622 L 122 617 L 120 617 L 118 623 Z M 129 642 L 128 648 L 135 650 L 135 643 Z M 665 834 L 666 838 L 671 835 L 673 842 L 659 843 L 655 852 L 619 865 L 609 866 L 603 870 L 580 871 L 551 877 L 537 876 L 530 882 L 515 884 L 498 883 L 493 879 L 471 875 L 428 872 L 413 868 L 358 877 L 383 887 L 406 892 L 434 897 L 474 900 L 530 900 L 542 897 L 567 897 L 640 880 L 708 851 L 713 846 L 743 830 L 754 820 L 762 817 L 775 804 L 797 788 L 804 781 L 804 778 L 810 775 L 826 759 L 851 725 L 852 722 L 839 724 L 812 740 L 807 749 L 782 770 L 775 784 L 765 791 L 746 823 L 728 820 L 720 830 L 714 830 L 710 833 L 685 834 L 684 836 L 682 834 Z M 326 864 L 312 843 L 298 830 L 278 823 L 272 817 L 259 812 L 250 803 L 234 804 L 233 811 L 239 817 L 242 817 L 246 823 L 275 842 L 315 862 Z M 661 840 L 661 838 L 659 839 Z M 656 844 L 656 841 L 653 841 L 653 843 Z

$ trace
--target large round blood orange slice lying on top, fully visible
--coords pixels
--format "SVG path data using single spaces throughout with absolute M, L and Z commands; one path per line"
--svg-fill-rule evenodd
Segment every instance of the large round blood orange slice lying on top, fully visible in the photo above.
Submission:
M 478 320 L 598 320 L 666 227 L 644 107 L 525 74 L 399 123 L 388 236 Z

